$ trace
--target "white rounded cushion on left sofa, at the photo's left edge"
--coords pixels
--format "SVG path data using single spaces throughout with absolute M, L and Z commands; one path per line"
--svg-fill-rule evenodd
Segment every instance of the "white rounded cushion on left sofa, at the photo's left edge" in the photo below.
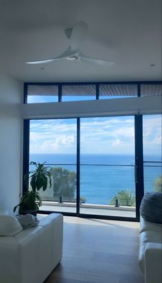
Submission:
M 14 236 L 22 230 L 23 227 L 14 216 L 0 215 L 0 236 Z

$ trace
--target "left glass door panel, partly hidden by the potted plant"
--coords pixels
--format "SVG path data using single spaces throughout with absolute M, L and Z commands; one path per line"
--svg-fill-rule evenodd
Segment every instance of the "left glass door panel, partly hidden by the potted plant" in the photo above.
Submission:
M 40 209 L 76 213 L 76 119 L 30 120 L 31 161 L 45 163 L 52 176 L 51 187 L 40 189 Z

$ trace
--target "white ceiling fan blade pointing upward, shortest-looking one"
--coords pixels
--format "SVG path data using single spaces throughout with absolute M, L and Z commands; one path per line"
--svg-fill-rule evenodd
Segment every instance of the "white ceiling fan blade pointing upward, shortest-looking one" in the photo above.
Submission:
M 70 37 L 71 50 L 80 50 L 80 47 L 86 36 L 87 30 L 88 25 L 84 23 L 84 21 L 79 21 L 78 23 L 76 23 L 76 25 L 74 25 Z

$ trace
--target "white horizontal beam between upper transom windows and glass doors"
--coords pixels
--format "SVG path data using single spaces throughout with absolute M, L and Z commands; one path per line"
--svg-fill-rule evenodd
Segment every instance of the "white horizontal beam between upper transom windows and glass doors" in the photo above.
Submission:
M 23 118 L 68 118 L 157 113 L 161 113 L 161 96 L 22 105 Z

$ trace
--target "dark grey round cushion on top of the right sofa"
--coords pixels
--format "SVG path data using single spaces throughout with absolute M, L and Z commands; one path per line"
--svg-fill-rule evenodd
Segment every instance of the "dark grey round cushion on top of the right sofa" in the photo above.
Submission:
M 141 201 L 140 215 L 150 222 L 162 223 L 162 193 L 146 193 Z

